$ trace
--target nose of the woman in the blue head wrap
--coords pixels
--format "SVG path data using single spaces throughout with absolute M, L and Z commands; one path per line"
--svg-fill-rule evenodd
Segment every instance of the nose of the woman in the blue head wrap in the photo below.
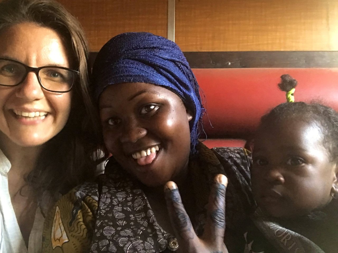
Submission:
M 130 119 L 122 127 L 120 135 L 121 143 L 136 143 L 147 134 L 147 130 L 142 127 L 135 119 Z

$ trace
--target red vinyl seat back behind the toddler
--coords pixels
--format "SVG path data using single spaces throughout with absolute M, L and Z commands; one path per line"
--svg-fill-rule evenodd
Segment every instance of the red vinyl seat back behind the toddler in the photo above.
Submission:
M 283 74 L 298 81 L 295 101 L 317 101 L 338 110 L 337 68 L 193 69 L 193 72 L 207 109 L 203 119 L 207 134 L 204 143 L 210 148 L 244 147 L 260 118 L 286 101 L 285 93 L 277 87 Z

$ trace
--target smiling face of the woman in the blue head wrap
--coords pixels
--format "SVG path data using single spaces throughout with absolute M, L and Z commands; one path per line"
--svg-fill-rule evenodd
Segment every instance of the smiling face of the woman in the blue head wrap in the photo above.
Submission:
M 126 171 L 148 186 L 182 173 L 192 116 L 175 93 L 149 83 L 120 83 L 104 90 L 99 107 L 105 145 Z

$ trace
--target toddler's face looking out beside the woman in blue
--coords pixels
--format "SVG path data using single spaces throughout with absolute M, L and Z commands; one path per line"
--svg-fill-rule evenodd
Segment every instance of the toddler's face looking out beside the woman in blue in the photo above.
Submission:
M 254 143 L 252 191 L 272 217 L 301 216 L 331 200 L 337 165 L 315 123 L 284 121 L 261 127 Z

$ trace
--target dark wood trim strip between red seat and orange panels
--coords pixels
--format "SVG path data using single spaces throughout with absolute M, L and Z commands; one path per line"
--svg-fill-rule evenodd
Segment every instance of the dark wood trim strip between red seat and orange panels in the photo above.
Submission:
M 97 52 L 91 52 L 93 64 Z M 338 68 L 338 51 L 184 52 L 193 69 Z

